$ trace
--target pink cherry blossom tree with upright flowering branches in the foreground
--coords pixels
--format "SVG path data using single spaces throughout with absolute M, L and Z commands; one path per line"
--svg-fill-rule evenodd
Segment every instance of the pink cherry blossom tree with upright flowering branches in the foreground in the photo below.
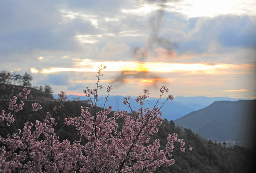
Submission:
M 74 126 L 79 134 L 79 140 L 59 140 L 59 132 L 54 125 L 55 118 L 47 113 L 43 121 L 26 122 L 21 128 L 16 122 L 16 115 L 23 109 L 24 102 L 30 90 L 25 86 L 19 97 L 13 96 L 9 102 L 8 111 L 2 110 L 0 123 L 8 130 L 15 129 L 6 137 L 0 136 L 0 172 L 10 173 L 152 173 L 160 166 L 170 166 L 175 163 L 172 154 L 175 146 L 181 152 L 185 151 L 185 142 L 178 139 L 177 134 L 167 137 L 165 150 L 160 149 L 158 139 L 150 143 L 150 135 L 157 133 L 162 123 L 160 109 L 165 102 L 173 99 L 169 95 L 163 105 L 158 106 L 163 94 L 168 88 L 160 88 L 160 97 L 153 108 L 149 108 L 149 91 L 136 98 L 140 105 L 138 111 L 132 109 L 130 97 L 125 97 L 123 103 L 131 112 L 111 113 L 112 107 L 105 107 L 112 87 L 107 87 L 107 96 L 103 108 L 97 107 L 98 92 L 103 89 L 99 85 L 104 67 L 99 67 L 96 87 L 84 90 L 91 100 L 91 108 L 81 107 L 81 116 L 65 118 L 65 125 Z M 59 94 L 58 106 L 66 100 L 64 92 Z M 146 103 L 144 105 L 144 102 Z M 33 103 L 32 110 L 36 113 L 42 109 L 39 103 Z M 190 147 L 189 150 L 192 150 Z

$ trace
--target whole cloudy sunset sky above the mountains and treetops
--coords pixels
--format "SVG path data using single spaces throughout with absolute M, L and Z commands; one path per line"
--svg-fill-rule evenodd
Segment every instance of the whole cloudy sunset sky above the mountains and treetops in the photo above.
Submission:
M 0 0 L 0 70 L 54 94 L 106 65 L 111 95 L 255 99 L 255 28 L 255 0 Z

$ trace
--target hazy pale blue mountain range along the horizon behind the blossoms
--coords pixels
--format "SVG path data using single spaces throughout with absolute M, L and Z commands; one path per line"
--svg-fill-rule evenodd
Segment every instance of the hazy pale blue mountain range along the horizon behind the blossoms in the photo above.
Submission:
M 54 98 L 58 98 L 58 95 L 54 95 Z M 79 98 L 80 100 L 88 100 L 86 96 L 76 96 L 76 95 L 68 95 L 68 99 L 72 101 L 74 98 Z M 134 110 L 139 108 L 138 103 L 135 101 L 136 97 L 131 97 L 131 106 Z M 113 106 L 113 111 L 130 111 L 130 108 L 123 104 L 124 96 L 109 96 L 108 102 L 105 106 Z M 158 98 L 150 98 L 150 108 L 154 106 Z M 166 118 L 168 120 L 178 119 L 192 111 L 196 111 L 202 108 L 205 108 L 212 104 L 214 101 L 238 101 L 242 99 L 234 99 L 229 97 L 181 97 L 177 96 L 173 101 L 168 101 L 164 107 L 161 109 L 162 118 Z M 98 106 L 102 107 L 104 105 L 105 96 L 99 97 Z M 159 101 L 159 105 L 165 101 L 165 98 Z M 145 101 L 146 104 L 146 101 Z

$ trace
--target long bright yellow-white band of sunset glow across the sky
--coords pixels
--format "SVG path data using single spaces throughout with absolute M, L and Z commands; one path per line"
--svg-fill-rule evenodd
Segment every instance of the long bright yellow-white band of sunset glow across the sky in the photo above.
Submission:
M 232 70 L 253 68 L 253 65 L 242 64 L 202 64 L 202 63 L 164 63 L 164 62 L 93 62 L 91 60 L 82 60 L 73 68 L 51 67 L 48 69 L 31 68 L 32 73 L 55 73 L 55 72 L 95 72 L 101 64 L 106 65 L 105 71 L 149 71 L 149 72 L 182 72 L 188 71 L 193 73 L 219 73 L 219 70 Z

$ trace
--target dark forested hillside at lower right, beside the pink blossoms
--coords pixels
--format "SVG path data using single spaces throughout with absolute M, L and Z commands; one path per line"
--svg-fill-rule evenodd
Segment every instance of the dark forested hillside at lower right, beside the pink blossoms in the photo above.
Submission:
M 173 155 L 176 164 L 159 168 L 157 173 L 251 173 L 254 168 L 254 151 L 241 146 L 226 147 L 216 141 L 207 140 L 190 129 L 175 126 L 173 121 L 163 121 L 153 138 L 166 143 L 168 133 L 177 133 L 193 146 L 191 152 Z

